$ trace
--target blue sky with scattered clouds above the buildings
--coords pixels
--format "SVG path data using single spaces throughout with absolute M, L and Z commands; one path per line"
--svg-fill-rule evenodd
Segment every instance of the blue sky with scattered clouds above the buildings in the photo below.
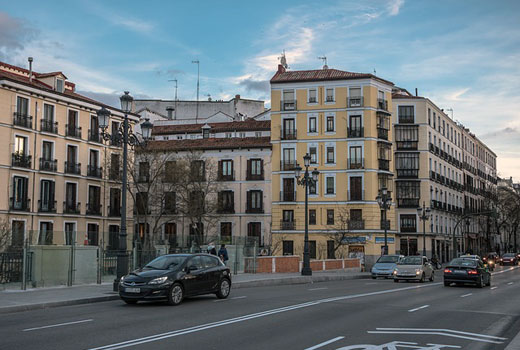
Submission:
M 30 11 L 28 11 L 30 9 Z M 62 71 L 79 92 L 270 104 L 285 50 L 291 69 L 374 73 L 430 98 L 520 181 L 520 1 L 0 0 L 0 60 Z M 451 113 L 450 113 L 451 114 Z

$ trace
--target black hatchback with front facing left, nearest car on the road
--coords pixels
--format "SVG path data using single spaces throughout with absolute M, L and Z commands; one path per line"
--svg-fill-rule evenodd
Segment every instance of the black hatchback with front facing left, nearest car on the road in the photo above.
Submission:
M 127 304 L 167 300 L 178 305 L 186 296 L 214 293 L 224 299 L 230 291 L 229 268 L 209 254 L 163 255 L 119 282 L 119 296 Z

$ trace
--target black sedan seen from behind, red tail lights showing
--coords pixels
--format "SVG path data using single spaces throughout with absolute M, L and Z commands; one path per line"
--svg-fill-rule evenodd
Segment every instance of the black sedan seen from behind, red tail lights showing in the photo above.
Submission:
M 471 283 L 482 288 L 491 285 L 491 273 L 479 259 L 456 258 L 444 269 L 444 285 Z

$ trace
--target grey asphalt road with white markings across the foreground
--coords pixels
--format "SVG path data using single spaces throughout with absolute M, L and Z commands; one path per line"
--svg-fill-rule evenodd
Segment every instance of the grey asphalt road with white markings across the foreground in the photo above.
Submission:
M 177 307 L 112 301 L 3 314 L 0 349 L 481 350 L 504 349 L 520 331 L 519 268 L 497 269 L 483 289 L 444 287 L 439 277 L 244 288 Z

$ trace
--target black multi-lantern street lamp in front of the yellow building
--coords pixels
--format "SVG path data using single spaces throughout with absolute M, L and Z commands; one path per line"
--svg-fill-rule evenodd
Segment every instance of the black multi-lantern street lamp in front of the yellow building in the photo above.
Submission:
M 302 276 L 311 276 L 312 270 L 309 257 L 309 186 L 316 185 L 320 172 L 318 169 L 314 168 L 312 173 L 309 174 L 309 166 L 311 164 L 311 156 L 309 153 L 305 154 L 303 157 L 303 164 L 305 165 L 305 173 L 303 174 L 303 177 L 300 177 L 302 171 L 300 166 L 294 168 L 294 177 L 296 178 L 296 183 L 298 185 L 305 187 L 305 241 L 303 246 Z

